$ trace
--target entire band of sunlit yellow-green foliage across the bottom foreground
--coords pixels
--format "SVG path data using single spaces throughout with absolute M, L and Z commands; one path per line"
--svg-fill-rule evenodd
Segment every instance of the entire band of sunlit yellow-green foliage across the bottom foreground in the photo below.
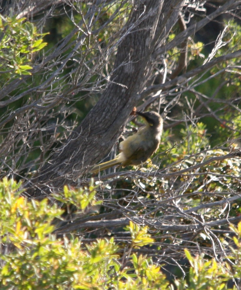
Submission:
M 192 257 L 185 249 L 189 271 L 185 279 L 168 281 L 151 258 L 132 253 L 153 244 L 154 239 L 132 222 L 127 226 L 132 244 L 116 244 L 114 238 L 83 244 L 81 238 L 57 238 L 51 234 L 63 211 L 47 199 L 27 201 L 17 184 L 0 183 L 1 289 L 227 289 L 241 275 L 241 222 L 227 236 L 231 254 L 222 262 L 203 255 Z M 78 193 L 89 189 L 79 189 Z M 93 191 L 91 186 L 90 191 Z M 71 194 L 69 192 L 69 196 Z M 67 189 L 65 188 L 65 195 Z M 225 241 L 224 241 L 225 244 Z M 226 245 L 227 245 L 226 240 Z M 123 248 L 127 257 L 122 257 Z M 225 260 L 226 259 L 226 260 Z M 123 262 L 125 261 L 125 262 Z M 236 280 L 237 281 L 237 280 Z M 174 286 L 175 285 L 175 286 Z M 234 284 L 234 288 L 235 284 Z

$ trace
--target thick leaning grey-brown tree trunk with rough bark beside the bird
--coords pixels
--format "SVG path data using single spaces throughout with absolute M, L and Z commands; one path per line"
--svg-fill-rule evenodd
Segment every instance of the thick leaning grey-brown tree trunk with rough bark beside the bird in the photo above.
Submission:
M 70 136 L 66 144 L 30 181 L 28 191 L 39 197 L 76 184 L 89 166 L 101 160 L 118 140 L 138 93 L 153 70 L 156 45 L 165 43 L 178 20 L 183 1 L 134 1 L 125 35 L 118 46 L 111 79 L 99 102 Z

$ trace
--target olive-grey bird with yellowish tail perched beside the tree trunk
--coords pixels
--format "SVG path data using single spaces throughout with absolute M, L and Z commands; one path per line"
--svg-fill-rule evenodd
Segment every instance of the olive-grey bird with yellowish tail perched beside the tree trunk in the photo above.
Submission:
M 120 145 L 115 159 L 94 165 L 90 172 L 98 173 L 112 166 L 140 165 L 147 161 L 159 147 L 163 131 L 163 118 L 154 111 L 135 112 L 144 119 L 145 127 L 127 137 Z

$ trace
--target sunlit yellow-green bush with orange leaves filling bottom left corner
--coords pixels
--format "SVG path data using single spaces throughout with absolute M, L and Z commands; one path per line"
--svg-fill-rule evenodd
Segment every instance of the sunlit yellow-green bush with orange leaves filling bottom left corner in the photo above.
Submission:
M 53 222 L 63 211 L 47 199 L 28 202 L 19 197 L 19 187 L 7 179 L 0 184 L 1 289 L 131 289 L 141 284 L 159 289 L 158 285 L 168 284 L 160 268 L 144 257 L 137 260 L 133 255 L 134 268 L 122 269 L 114 238 L 86 247 L 78 238 L 56 238 L 51 234 Z M 140 233 L 136 238 L 140 245 Z

